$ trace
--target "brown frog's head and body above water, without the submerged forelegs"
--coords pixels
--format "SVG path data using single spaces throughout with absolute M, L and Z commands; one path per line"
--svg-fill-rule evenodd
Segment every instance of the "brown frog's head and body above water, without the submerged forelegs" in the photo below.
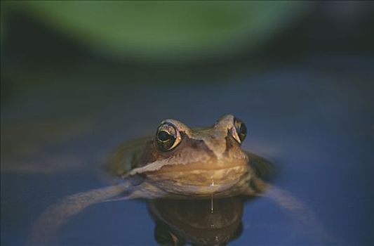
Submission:
M 246 126 L 233 115 L 200 129 L 165 119 L 154 137 L 121 145 L 109 171 L 125 180 L 142 177 L 142 183 L 131 189 L 131 198 L 255 195 L 263 183 L 257 181 L 251 160 L 259 163 L 261 158 L 241 149 L 244 138 Z M 269 167 L 265 160 L 260 162 L 262 169 Z

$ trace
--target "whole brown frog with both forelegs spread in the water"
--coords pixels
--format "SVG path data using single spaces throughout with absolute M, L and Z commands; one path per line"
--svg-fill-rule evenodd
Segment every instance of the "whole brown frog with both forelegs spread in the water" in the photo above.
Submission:
M 203 199 L 263 193 L 298 216 L 307 216 L 301 202 L 261 179 L 270 166 L 241 149 L 246 133 L 245 124 L 233 115 L 200 129 L 190 129 L 175 119 L 163 120 L 155 136 L 123 144 L 114 152 L 108 169 L 121 183 L 78 193 L 48 207 L 34 225 L 34 242 L 46 242 L 69 216 L 108 199 Z

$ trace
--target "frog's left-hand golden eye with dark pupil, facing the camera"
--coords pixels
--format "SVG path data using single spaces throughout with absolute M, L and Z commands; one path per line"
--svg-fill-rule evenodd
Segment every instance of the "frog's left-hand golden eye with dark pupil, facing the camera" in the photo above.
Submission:
M 161 124 L 156 133 L 156 145 L 159 150 L 168 151 L 180 143 L 180 132 L 172 124 Z

